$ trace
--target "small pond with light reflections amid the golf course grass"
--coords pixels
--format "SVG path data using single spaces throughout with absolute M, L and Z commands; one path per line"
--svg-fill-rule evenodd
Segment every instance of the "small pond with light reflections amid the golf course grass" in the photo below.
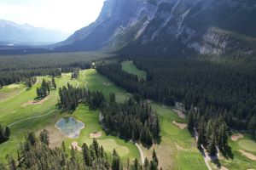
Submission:
M 80 131 L 84 128 L 84 122 L 78 121 L 73 116 L 61 118 L 55 123 L 61 133 L 65 134 L 70 139 L 76 139 L 79 137 Z

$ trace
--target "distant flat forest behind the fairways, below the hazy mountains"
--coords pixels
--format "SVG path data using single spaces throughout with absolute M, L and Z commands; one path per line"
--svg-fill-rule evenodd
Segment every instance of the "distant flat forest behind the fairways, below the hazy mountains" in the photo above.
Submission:
M 61 76 L 61 72 L 89 69 L 91 62 L 110 54 L 67 53 L 0 56 L 0 88 L 12 83 L 25 82 L 30 77 Z

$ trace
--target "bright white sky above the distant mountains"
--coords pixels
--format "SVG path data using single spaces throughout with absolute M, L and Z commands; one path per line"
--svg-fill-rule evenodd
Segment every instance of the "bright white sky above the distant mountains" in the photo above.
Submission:
M 0 0 L 0 20 L 73 33 L 95 21 L 104 0 Z

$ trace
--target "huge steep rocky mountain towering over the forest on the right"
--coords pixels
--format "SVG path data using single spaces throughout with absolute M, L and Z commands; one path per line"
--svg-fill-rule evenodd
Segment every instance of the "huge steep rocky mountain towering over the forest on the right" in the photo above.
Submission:
M 98 19 L 55 50 L 254 54 L 254 0 L 106 0 Z

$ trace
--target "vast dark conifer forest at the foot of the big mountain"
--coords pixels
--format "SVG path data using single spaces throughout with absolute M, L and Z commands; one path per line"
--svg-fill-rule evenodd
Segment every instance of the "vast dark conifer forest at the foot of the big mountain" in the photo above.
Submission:
M 182 102 L 187 111 L 212 108 L 229 127 L 247 128 L 256 113 L 256 65 L 212 63 L 199 59 L 134 59 L 147 72 L 145 81 L 121 70 L 118 64 L 98 62 L 96 70 L 122 88 L 167 105 Z

